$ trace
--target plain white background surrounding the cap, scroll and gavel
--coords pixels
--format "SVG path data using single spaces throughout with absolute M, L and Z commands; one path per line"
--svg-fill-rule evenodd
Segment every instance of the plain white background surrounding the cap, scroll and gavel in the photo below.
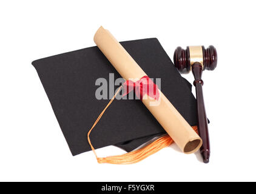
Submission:
M 255 1 L 1 1 L 0 181 L 256 181 L 255 19 Z M 175 145 L 126 166 L 71 155 L 31 62 L 95 45 L 100 25 L 118 41 L 156 37 L 170 58 L 179 45 L 217 48 L 203 72 L 209 164 Z

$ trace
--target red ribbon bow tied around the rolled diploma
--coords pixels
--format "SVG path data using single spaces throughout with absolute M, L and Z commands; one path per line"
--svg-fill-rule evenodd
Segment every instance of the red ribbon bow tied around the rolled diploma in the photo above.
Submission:
M 123 87 L 123 96 L 128 95 L 130 92 L 132 92 L 132 90 L 135 90 L 135 95 L 141 100 L 146 94 L 151 98 L 157 100 L 160 96 L 157 85 L 148 76 L 143 76 L 140 80 L 136 82 L 127 80 L 126 82 L 124 82 Z

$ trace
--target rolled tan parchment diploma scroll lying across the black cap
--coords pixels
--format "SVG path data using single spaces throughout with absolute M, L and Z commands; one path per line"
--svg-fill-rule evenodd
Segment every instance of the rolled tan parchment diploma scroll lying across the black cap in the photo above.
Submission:
M 124 79 L 138 80 L 146 76 L 146 73 L 108 30 L 100 27 L 95 33 L 94 42 Z M 166 96 L 160 90 L 159 92 L 160 103 L 158 105 L 150 105 L 150 102 L 152 104 L 152 101 L 157 100 L 146 95 L 147 98 L 142 99 L 143 104 L 184 153 L 196 152 L 202 144 L 200 136 L 195 133 Z

